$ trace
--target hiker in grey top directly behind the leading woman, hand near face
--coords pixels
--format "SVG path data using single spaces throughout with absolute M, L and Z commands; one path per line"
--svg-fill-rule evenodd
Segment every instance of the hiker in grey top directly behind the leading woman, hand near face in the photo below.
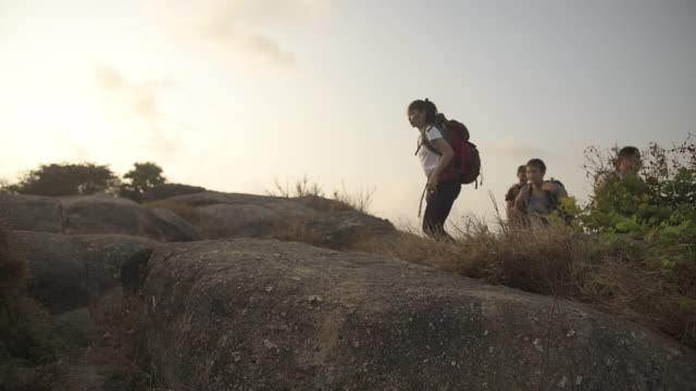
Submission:
M 544 180 L 546 164 L 540 159 L 532 159 L 526 163 L 526 177 L 529 184 L 520 189 L 514 200 L 518 212 L 529 217 L 536 216 L 542 223 L 547 224 L 546 216 L 554 213 L 560 206 L 561 200 L 568 197 L 568 192 L 559 180 Z M 526 223 L 525 222 L 525 223 Z

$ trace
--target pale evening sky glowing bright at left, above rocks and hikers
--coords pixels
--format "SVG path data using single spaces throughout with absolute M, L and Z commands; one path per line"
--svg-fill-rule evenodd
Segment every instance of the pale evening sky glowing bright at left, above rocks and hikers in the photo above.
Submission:
M 696 131 L 696 1 L 0 0 L 0 178 L 135 162 L 265 193 L 304 176 L 418 224 L 406 108 L 464 123 L 493 216 L 518 165 L 587 199 L 583 150 Z

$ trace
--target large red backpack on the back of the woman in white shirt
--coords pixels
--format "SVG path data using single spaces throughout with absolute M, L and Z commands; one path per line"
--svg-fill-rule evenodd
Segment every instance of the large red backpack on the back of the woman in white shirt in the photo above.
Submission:
M 475 182 L 476 188 L 478 188 L 481 155 L 476 146 L 469 141 L 467 126 L 458 121 L 447 119 L 443 114 L 438 114 L 438 121 L 435 126 L 443 133 L 443 137 L 455 151 L 455 156 L 449 166 L 443 171 L 438 180 L 459 180 L 463 185 Z M 421 146 L 424 146 L 433 153 L 442 154 L 426 139 L 423 139 L 423 143 L 418 146 L 417 154 Z

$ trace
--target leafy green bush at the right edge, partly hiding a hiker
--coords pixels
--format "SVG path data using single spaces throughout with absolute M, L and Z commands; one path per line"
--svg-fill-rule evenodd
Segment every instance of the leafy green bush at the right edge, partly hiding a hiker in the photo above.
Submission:
M 593 149 L 589 153 L 597 156 L 596 151 Z M 609 162 L 613 163 L 612 160 Z M 586 168 L 588 174 L 596 176 L 598 168 L 604 167 L 595 164 Z M 598 235 L 602 243 L 670 280 L 676 281 L 681 272 L 696 268 L 696 144 L 693 135 L 670 149 L 651 143 L 643 152 L 639 173 L 608 181 L 597 189 L 595 197 L 597 207 L 587 205 L 580 211 L 566 205 L 576 214 L 577 226 Z M 683 293 L 694 293 L 693 283 L 683 288 Z

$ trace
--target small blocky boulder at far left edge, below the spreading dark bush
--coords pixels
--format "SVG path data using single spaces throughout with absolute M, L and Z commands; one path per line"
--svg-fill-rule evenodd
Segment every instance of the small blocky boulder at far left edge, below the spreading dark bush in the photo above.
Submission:
M 10 229 L 53 234 L 65 230 L 62 205 L 49 197 L 0 193 L 0 216 Z

